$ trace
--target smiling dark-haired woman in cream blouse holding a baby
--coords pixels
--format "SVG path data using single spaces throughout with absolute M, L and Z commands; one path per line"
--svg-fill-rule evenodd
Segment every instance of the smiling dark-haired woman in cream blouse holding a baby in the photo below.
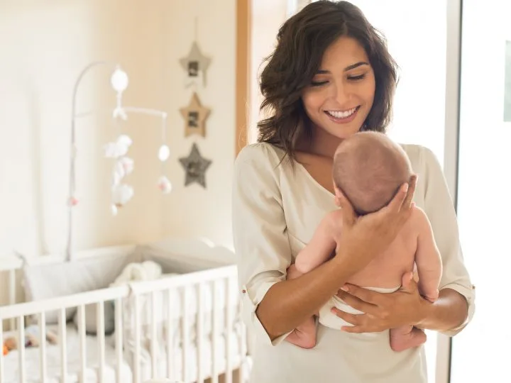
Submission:
M 233 233 L 243 316 L 255 335 L 251 382 L 427 382 L 424 348 L 395 353 L 388 329 L 414 325 L 455 335 L 473 315 L 473 287 L 463 265 L 456 213 L 431 151 L 403 145 L 417 179 L 388 206 L 357 218 L 346 199 L 334 201 L 331 164 L 344 138 L 381 131 L 390 121 L 395 63 L 361 11 L 346 1 L 317 1 L 280 28 L 261 75 L 263 108 L 258 143 L 235 165 Z M 414 281 L 378 294 L 348 286 L 395 238 L 413 203 L 426 211 L 444 274 L 430 304 Z M 285 280 L 297 252 L 322 217 L 344 211 L 338 251 L 302 277 Z M 405 278 L 404 278 L 405 279 Z M 317 345 L 305 350 L 282 340 L 338 294 L 366 314 L 336 314 L 349 331 L 318 325 Z M 374 333 L 361 341 L 356 333 Z

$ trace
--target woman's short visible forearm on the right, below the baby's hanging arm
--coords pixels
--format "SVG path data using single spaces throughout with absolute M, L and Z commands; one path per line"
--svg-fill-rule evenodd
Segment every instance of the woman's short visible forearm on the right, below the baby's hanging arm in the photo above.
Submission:
M 468 315 L 465 297 L 453 289 L 440 290 L 434 303 L 424 301 L 424 315 L 417 327 L 434 331 L 449 331 L 463 323 Z

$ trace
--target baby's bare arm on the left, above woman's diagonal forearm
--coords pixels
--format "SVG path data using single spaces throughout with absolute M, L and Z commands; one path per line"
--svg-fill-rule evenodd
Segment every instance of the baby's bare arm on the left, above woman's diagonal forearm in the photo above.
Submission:
M 329 260 L 336 249 L 335 229 L 340 225 L 339 211 L 329 213 L 314 231 L 309 243 L 298 253 L 295 260 L 297 271 L 305 274 Z M 339 220 L 335 224 L 334 220 Z

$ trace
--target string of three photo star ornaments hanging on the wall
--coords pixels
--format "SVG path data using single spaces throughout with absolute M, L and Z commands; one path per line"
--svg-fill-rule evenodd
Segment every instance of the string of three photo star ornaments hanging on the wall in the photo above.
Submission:
M 196 7 L 198 9 L 198 7 Z M 211 113 L 211 109 L 202 106 L 197 94 L 197 89 L 206 87 L 207 70 L 211 64 L 211 59 L 202 54 L 197 43 L 197 13 L 195 17 L 194 41 L 187 57 L 180 60 L 182 69 L 185 71 L 185 87 L 194 87 L 188 106 L 180 109 L 182 118 L 185 120 L 185 137 L 198 135 L 206 137 L 206 120 Z M 185 187 L 189 184 L 197 183 L 206 189 L 206 171 L 211 165 L 211 160 L 202 157 L 197 143 L 192 144 L 192 148 L 187 157 L 179 159 L 185 170 Z

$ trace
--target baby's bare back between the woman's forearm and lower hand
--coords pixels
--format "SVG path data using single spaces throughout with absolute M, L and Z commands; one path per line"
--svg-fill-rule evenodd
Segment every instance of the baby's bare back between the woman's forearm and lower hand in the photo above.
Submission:
M 417 239 L 421 230 L 418 221 L 419 211 L 414 209 L 388 249 L 375 257 L 361 272 L 353 275 L 348 283 L 381 289 L 400 287 L 403 274 L 414 270 Z

